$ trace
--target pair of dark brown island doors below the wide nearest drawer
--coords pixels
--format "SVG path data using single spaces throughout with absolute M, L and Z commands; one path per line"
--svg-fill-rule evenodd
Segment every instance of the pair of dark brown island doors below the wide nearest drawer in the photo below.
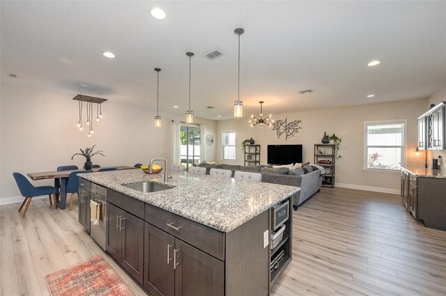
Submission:
M 144 287 L 152 295 L 224 294 L 222 261 L 148 223 L 144 237 Z

